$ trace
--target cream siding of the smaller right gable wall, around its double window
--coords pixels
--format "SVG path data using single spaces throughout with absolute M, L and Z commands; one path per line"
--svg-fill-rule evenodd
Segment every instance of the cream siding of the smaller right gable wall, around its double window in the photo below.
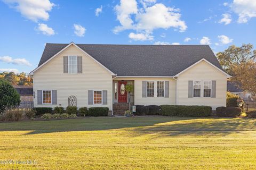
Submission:
M 203 85 L 201 84 L 201 97 L 189 98 L 188 81 L 190 80 L 215 80 L 216 97 L 203 97 Z M 205 105 L 211 106 L 212 109 L 219 106 L 226 106 L 227 76 L 205 61 L 181 73 L 178 77 L 177 88 L 178 105 Z

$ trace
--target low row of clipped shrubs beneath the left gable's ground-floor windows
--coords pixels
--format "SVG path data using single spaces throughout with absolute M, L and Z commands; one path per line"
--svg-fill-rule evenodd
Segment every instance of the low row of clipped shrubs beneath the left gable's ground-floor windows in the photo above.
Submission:
M 108 107 L 91 107 L 87 109 L 86 107 L 81 107 L 77 111 L 76 106 L 68 106 L 66 111 L 63 107 L 54 107 L 54 111 L 51 107 L 35 107 L 33 108 L 36 112 L 36 115 L 43 115 L 46 113 L 50 114 L 64 114 L 67 113 L 69 115 L 81 115 L 81 116 L 108 116 Z

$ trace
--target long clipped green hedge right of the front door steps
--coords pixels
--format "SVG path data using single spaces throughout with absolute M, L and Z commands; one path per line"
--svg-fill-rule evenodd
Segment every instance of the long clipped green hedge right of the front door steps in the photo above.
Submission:
M 210 106 L 136 105 L 135 115 L 206 117 L 212 113 Z

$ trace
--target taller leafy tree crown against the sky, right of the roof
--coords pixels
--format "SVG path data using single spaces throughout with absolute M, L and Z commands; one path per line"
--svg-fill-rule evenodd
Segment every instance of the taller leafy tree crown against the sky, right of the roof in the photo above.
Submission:
M 256 50 L 253 50 L 253 45 L 251 44 L 243 44 L 241 47 L 232 45 L 223 52 L 217 53 L 217 58 L 223 69 L 228 74 L 234 75 L 233 66 L 248 62 L 249 60 L 255 61 Z

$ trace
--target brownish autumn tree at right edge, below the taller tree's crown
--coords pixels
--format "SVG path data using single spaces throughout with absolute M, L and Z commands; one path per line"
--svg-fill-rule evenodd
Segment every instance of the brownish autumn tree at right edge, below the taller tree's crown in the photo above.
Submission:
M 237 86 L 256 96 L 256 63 L 253 60 L 233 65 L 234 76 L 232 81 L 239 82 Z

